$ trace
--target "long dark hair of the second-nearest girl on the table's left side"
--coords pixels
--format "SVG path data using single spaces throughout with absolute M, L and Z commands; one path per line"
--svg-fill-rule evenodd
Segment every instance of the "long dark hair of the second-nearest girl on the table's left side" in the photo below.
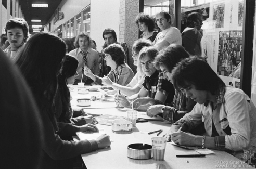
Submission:
M 75 75 L 78 68 L 78 59 L 70 55 L 65 56 L 62 61 L 62 67 L 58 75 L 59 92 L 62 101 L 62 113 L 60 115 L 60 121 L 66 121 L 71 118 L 72 108 L 70 105 L 70 92 L 68 88 L 67 78 Z

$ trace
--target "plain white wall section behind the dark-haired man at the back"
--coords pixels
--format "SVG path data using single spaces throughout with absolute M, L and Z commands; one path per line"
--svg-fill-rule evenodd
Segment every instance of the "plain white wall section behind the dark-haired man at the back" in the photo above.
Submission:
M 91 1 L 91 38 L 100 51 L 104 44 L 102 33 L 106 28 L 112 28 L 117 33 L 119 41 L 119 8 L 120 0 L 92 0 Z

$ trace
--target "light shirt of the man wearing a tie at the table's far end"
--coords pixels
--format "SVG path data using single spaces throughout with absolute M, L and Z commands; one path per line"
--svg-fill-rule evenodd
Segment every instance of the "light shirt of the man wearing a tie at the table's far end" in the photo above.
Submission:
M 87 52 L 88 54 L 86 57 L 87 58 L 86 66 L 92 71 L 93 74 L 99 75 L 99 55 L 97 50 L 88 48 Z M 84 62 L 82 50 L 79 47 L 77 49 L 70 51 L 69 55 L 74 56 L 76 59 L 78 59 L 79 61 L 78 69 L 77 69 L 78 77 L 76 77 L 76 79 L 81 79 L 83 74 L 82 67 Z

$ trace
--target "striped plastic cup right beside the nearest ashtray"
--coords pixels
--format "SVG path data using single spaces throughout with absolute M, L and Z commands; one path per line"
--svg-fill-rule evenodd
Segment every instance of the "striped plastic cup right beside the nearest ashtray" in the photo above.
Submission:
M 153 160 L 163 161 L 167 138 L 153 137 L 151 139 L 152 139 Z

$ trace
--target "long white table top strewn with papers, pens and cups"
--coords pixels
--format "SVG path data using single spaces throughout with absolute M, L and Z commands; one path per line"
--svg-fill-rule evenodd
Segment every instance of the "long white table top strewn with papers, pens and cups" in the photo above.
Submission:
M 76 94 L 72 94 L 78 96 Z M 83 98 L 83 96 L 81 96 Z M 108 104 L 108 103 L 101 103 Z M 111 114 L 126 116 L 123 108 L 89 109 L 85 110 L 93 114 Z M 177 158 L 177 154 L 198 154 L 195 150 L 187 150 L 171 144 L 167 144 L 164 161 L 135 160 L 127 157 L 127 146 L 134 143 L 145 143 L 151 145 L 151 138 L 156 134 L 148 135 L 148 132 L 163 129 L 159 136 L 163 136 L 170 129 L 168 122 L 149 121 L 137 123 L 132 132 L 116 133 L 111 126 L 97 125 L 110 136 L 111 146 L 99 149 L 90 153 L 82 154 L 82 159 L 88 169 L 91 168 L 250 168 L 251 166 L 233 157 L 232 155 L 219 150 L 212 150 L 215 153 L 208 154 L 202 158 Z M 79 139 L 78 137 L 73 137 Z

